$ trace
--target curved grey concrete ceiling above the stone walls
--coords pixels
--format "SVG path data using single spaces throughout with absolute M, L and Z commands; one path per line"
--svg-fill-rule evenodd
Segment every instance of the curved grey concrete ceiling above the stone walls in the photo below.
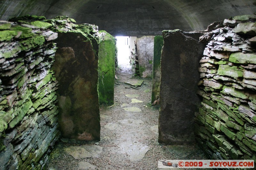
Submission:
M 205 30 L 214 21 L 253 14 L 256 0 L 0 0 L 0 19 L 58 15 L 112 35 L 161 35 L 166 29 Z

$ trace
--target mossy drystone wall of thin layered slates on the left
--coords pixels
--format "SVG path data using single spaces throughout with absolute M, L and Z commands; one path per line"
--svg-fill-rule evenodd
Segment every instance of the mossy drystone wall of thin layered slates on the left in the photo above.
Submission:
M 58 34 L 43 19 L 0 21 L 0 169 L 46 168 L 60 136 L 50 70 Z

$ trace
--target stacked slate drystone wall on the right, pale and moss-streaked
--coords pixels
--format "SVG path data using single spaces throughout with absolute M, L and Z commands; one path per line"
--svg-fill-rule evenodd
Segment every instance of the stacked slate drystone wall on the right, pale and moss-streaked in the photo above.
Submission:
M 196 140 L 211 159 L 256 162 L 256 15 L 213 23 L 200 40 Z

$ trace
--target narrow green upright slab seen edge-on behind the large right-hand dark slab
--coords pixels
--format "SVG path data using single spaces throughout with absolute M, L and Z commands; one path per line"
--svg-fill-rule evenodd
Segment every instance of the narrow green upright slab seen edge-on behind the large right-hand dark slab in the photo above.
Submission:
M 164 45 L 163 36 L 155 36 L 154 38 L 154 60 L 153 60 L 153 86 L 151 103 L 159 99 L 160 91 L 160 74 L 161 74 L 161 52 Z

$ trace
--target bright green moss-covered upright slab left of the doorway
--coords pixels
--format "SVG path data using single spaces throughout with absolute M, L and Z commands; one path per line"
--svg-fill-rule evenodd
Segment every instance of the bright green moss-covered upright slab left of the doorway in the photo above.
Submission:
M 114 104 L 115 38 L 106 34 L 99 46 L 99 101 Z

